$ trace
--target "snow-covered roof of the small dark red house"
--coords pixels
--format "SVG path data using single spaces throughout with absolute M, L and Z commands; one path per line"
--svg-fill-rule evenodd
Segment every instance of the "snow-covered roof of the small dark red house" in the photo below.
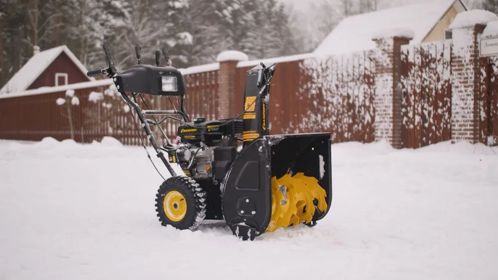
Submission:
M 65 45 L 48 49 L 33 55 L 17 73 L 1 88 L 0 93 L 25 91 L 43 71 L 64 52 L 85 75 L 88 70 Z M 94 78 L 89 78 L 95 81 Z

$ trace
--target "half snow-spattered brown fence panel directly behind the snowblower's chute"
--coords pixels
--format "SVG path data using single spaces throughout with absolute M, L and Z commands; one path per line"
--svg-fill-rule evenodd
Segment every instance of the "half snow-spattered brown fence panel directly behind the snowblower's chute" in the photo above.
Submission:
M 332 141 L 372 142 L 373 51 L 279 62 L 270 87 L 272 134 L 331 132 Z M 268 63 L 271 63 L 268 60 Z M 237 108 L 243 107 L 246 71 L 237 69 Z

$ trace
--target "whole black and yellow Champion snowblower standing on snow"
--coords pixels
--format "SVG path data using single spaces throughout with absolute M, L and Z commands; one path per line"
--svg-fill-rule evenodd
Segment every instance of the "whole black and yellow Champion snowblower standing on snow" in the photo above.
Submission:
M 191 121 L 184 108 L 183 76 L 172 66 L 167 51 L 156 52 L 155 66 L 140 64 L 137 44 L 138 64 L 118 73 L 109 44 L 103 48 L 109 67 L 87 75 L 113 79 L 171 175 L 156 195 L 163 226 L 196 230 L 204 219 L 225 219 L 233 234 L 253 240 L 280 227 L 314 226 L 327 214 L 332 200 L 330 134 L 269 135 L 269 86 L 275 64 L 261 63 L 247 71 L 244 111 L 239 116 Z M 161 53 L 166 65 L 159 65 Z M 178 107 L 171 102 L 173 110 L 151 110 L 142 93 L 176 96 Z M 140 108 L 137 98 L 147 109 Z M 157 121 L 156 115 L 164 117 Z M 132 117 L 135 121 L 133 113 Z M 160 126 L 167 119 L 182 124 L 175 144 Z M 150 125 L 161 130 L 165 141 L 161 146 Z M 178 164 L 184 174 L 175 172 L 172 164 Z

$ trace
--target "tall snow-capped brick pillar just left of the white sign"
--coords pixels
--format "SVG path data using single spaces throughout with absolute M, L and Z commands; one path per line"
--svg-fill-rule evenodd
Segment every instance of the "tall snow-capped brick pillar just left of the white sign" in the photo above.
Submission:
M 449 30 L 451 51 L 451 138 L 456 141 L 479 141 L 479 34 L 498 17 L 485 10 L 459 13 Z

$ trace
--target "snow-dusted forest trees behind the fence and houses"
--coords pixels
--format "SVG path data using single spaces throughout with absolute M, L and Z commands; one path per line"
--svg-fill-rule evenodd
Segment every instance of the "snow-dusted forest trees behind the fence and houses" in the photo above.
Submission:
M 481 6 L 496 12 L 497 2 Z M 34 46 L 67 45 L 88 69 L 98 69 L 108 41 L 123 69 L 135 63 L 133 45 L 141 43 L 144 63 L 166 48 L 183 68 L 214 62 L 229 49 L 249 59 L 310 52 L 345 16 L 394 4 L 318 0 L 304 12 L 279 0 L 0 0 L 0 85 Z

